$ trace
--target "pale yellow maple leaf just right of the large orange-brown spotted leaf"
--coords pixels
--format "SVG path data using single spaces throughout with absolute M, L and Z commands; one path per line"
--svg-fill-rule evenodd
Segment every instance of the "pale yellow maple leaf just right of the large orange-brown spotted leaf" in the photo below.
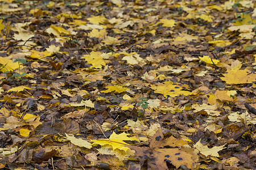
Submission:
M 201 139 L 194 145 L 194 147 L 196 148 L 195 151 L 198 150 L 204 156 L 215 156 L 215 157 L 220 157 L 220 155 L 218 155 L 218 151 L 223 150 L 225 148 L 224 146 L 225 145 L 208 148 L 208 146 L 204 146 L 201 143 Z

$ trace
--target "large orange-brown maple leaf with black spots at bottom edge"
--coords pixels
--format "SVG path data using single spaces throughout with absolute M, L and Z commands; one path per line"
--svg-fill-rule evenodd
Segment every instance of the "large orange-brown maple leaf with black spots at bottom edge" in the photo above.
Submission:
M 159 129 L 152 137 L 150 147 L 127 147 L 136 151 L 136 156 L 141 164 L 147 160 L 149 169 L 168 169 L 166 162 L 175 165 L 176 168 L 185 165 L 189 169 L 194 169 L 198 158 L 191 148 L 162 148 L 164 146 L 177 147 L 185 144 L 187 142 L 183 141 L 183 139 L 174 137 L 164 139 L 162 130 Z

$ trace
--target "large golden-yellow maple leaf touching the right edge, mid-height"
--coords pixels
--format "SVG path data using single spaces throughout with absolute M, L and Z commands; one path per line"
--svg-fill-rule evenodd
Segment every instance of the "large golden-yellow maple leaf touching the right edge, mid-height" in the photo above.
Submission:
M 221 77 L 221 80 L 225 81 L 227 84 L 244 84 L 244 83 L 253 83 L 256 82 L 256 74 L 251 73 L 251 71 L 245 70 L 237 70 L 227 71 L 223 74 L 224 77 Z

